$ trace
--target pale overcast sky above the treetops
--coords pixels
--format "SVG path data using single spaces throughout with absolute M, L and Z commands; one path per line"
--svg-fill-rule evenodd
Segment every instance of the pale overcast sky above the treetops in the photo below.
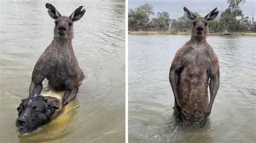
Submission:
M 171 19 L 177 19 L 183 16 L 184 6 L 186 6 L 192 12 L 198 12 L 201 16 L 207 15 L 207 13 L 214 8 L 224 11 L 228 7 L 226 0 L 129 0 L 128 8 L 134 9 L 145 3 L 150 3 L 154 6 L 155 16 L 157 12 L 167 11 L 169 12 Z M 252 15 L 254 14 L 255 17 L 255 0 L 246 0 L 246 2 L 242 4 L 240 8 L 245 16 L 248 16 L 251 19 Z

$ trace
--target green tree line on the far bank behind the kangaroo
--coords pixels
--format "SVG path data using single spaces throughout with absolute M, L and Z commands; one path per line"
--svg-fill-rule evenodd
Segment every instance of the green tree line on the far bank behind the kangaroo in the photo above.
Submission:
M 244 16 L 240 9 L 245 0 L 228 0 L 227 3 L 228 8 L 220 11 L 219 16 L 210 22 L 210 32 L 255 32 L 254 16 L 250 20 L 248 16 Z M 197 12 L 195 14 L 200 16 Z M 187 18 L 185 12 L 178 19 L 170 19 L 170 15 L 166 11 L 158 12 L 157 17 L 152 19 L 150 19 L 150 16 L 154 16 L 154 10 L 149 3 L 130 9 L 128 12 L 129 31 L 164 31 L 170 28 L 181 32 L 191 30 L 191 20 Z

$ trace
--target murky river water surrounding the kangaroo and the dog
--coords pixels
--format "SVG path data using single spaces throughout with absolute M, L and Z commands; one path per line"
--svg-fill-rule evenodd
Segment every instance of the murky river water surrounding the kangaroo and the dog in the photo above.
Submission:
M 64 16 L 80 5 L 73 50 L 86 78 L 64 113 L 31 135 L 18 135 L 17 107 L 33 67 L 53 39 L 44 1 L 1 1 L 0 142 L 125 141 L 125 1 L 47 1 Z M 44 87 L 48 83 L 43 82 Z

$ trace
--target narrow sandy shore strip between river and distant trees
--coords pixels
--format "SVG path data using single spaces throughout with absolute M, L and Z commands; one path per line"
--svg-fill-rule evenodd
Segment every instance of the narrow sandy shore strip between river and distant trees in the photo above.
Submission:
M 159 35 L 190 35 L 191 32 L 174 32 L 174 31 L 129 31 L 128 34 L 159 34 Z M 251 35 L 256 36 L 256 32 L 216 32 L 209 35 Z

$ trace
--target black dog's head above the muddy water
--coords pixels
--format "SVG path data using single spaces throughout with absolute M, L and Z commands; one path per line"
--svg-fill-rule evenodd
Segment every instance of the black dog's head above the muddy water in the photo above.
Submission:
M 49 123 L 52 114 L 59 109 L 52 103 L 48 103 L 42 96 L 22 99 L 17 108 L 18 119 L 16 126 L 21 135 L 35 131 L 39 126 Z

